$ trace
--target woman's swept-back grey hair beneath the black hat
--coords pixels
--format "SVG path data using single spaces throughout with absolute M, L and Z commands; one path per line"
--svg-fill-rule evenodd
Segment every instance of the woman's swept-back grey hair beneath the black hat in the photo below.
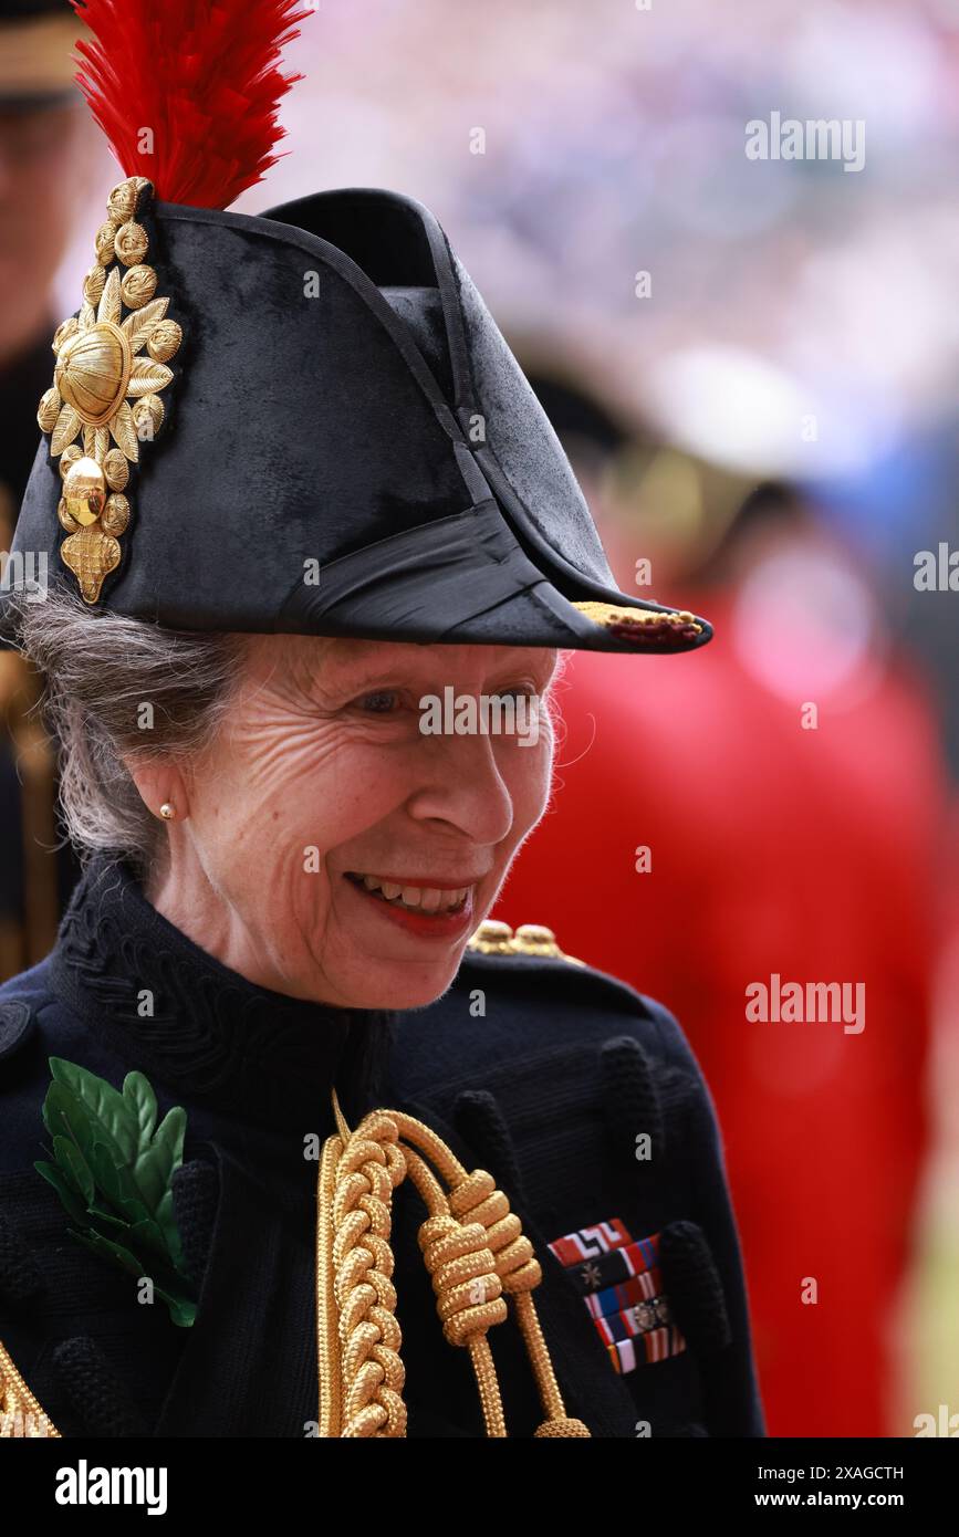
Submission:
M 97 612 L 66 592 L 14 601 L 15 644 L 45 676 L 66 833 L 81 861 L 106 850 L 146 876 L 164 827 L 124 759 L 181 764 L 209 744 L 238 684 L 244 638 Z

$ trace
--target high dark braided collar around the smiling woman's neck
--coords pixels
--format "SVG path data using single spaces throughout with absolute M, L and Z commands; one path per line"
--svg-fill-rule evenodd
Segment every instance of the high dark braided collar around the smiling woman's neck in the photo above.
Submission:
M 54 990 L 131 1068 L 261 1125 L 329 1105 L 350 1124 L 383 1087 L 395 1016 L 257 987 L 163 918 L 132 868 L 95 858 L 63 916 Z

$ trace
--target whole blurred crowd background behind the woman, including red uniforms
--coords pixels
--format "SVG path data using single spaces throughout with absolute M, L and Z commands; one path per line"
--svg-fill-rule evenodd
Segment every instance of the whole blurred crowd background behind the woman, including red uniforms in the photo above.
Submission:
M 424 201 L 621 590 L 716 624 L 695 656 L 569 659 L 556 795 L 496 916 L 549 924 L 687 1031 L 770 1434 L 959 1416 L 959 3 L 324 0 L 287 61 L 289 154 L 237 206 L 349 184 Z M 28 324 L 0 272 L 8 516 L 48 383 L 20 381 L 40 332 L 49 372 L 117 180 L 81 106 L 46 111 L 29 154 L 0 112 L 0 204 L 31 177 L 58 263 L 37 271 L 0 207 L 0 269 L 35 289 Z M 859 124 L 861 169 L 748 158 L 773 114 Z M 9 827 L 17 784 L 41 807 L 51 768 L 23 679 L 0 687 Z M 9 970 L 55 925 L 31 825 L 6 862 Z M 865 1028 L 748 1022 L 773 973 L 864 984 Z

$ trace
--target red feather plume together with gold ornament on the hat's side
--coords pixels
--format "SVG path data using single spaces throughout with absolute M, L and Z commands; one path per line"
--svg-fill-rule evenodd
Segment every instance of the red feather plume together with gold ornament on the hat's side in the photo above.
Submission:
M 300 78 L 278 68 L 309 15 L 298 0 L 168 0 L 163 25 L 126 0 L 71 6 L 71 38 L 85 35 L 78 58 L 65 43 L 61 63 L 75 69 L 124 169 L 149 168 L 171 203 L 226 207 L 274 164 L 278 100 Z M 54 337 L 54 383 L 37 412 L 63 478 L 57 516 L 69 538 L 60 556 L 88 604 L 120 566 L 131 476 L 168 418 L 164 392 L 177 372 L 169 364 L 183 341 L 148 260 L 154 191 L 154 180 L 128 175 L 111 192 L 80 310 Z

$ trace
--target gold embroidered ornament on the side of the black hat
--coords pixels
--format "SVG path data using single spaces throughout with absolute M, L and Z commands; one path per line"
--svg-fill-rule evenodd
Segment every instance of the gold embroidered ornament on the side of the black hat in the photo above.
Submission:
M 109 195 L 83 304 L 54 337 L 54 384 L 37 412 L 63 478 L 57 516 L 69 538 L 60 555 L 86 603 L 97 603 L 120 564 L 131 520 L 129 467 L 160 430 L 160 392 L 174 377 L 166 364 L 181 341 L 180 326 L 166 318 L 169 300 L 155 298 L 157 274 L 146 266 L 149 240 L 137 204 L 148 189 L 152 194 L 144 177 L 128 177 Z

